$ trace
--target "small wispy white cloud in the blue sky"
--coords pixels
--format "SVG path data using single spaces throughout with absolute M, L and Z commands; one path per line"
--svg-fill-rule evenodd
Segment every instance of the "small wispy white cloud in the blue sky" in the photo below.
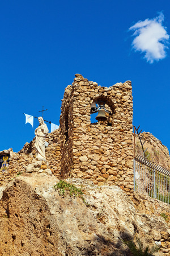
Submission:
M 135 51 L 145 53 L 145 59 L 149 63 L 161 60 L 166 57 L 169 35 L 166 27 L 163 26 L 164 15 L 159 13 L 154 19 L 139 20 L 129 30 L 134 30 L 135 36 L 132 46 Z

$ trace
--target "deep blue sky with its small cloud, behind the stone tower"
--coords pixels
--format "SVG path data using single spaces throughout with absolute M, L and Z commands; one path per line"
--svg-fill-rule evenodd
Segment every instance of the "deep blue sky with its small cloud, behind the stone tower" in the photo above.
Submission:
M 169 13 L 168 0 L 1 1 L 0 150 L 34 137 L 39 123 L 25 125 L 23 113 L 44 105 L 44 119 L 59 124 L 75 73 L 107 87 L 131 80 L 133 124 L 170 149 Z

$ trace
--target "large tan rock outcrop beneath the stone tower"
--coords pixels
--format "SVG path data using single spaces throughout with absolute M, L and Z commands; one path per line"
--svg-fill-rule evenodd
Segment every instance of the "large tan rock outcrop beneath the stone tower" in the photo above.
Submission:
M 24 173 L 3 191 L 0 207 L 0 255 L 130 255 L 122 239 L 142 237 L 161 244 L 169 255 L 170 230 L 161 216 L 141 213 L 118 187 L 68 179 L 84 192 L 82 199 L 53 187 L 57 177 Z

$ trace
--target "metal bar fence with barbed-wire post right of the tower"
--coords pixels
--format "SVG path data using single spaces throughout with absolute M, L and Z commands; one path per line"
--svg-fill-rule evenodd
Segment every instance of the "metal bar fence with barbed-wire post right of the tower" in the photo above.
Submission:
M 138 129 L 134 127 L 134 191 L 170 204 L 170 170 L 147 159 Z

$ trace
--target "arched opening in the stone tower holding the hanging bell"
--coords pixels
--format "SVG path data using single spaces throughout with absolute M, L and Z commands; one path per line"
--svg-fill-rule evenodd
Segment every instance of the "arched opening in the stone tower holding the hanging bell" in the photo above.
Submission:
M 97 97 L 91 102 L 91 123 L 112 126 L 113 114 L 114 104 L 111 99 Z

